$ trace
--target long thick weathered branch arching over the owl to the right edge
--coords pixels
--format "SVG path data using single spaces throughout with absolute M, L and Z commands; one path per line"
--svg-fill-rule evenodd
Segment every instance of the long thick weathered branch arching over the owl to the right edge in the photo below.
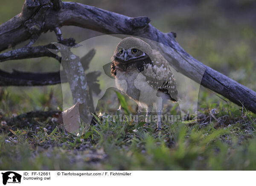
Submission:
M 43 32 L 56 27 L 73 25 L 96 30 L 106 34 L 135 35 L 157 41 L 172 47 L 179 52 L 161 50 L 166 60 L 175 70 L 201 83 L 204 87 L 230 99 L 230 101 L 256 113 L 256 92 L 213 70 L 193 58 L 175 41 L 172 32 L 163 33 L 149 24 L 148 17 L 127 17 L 92 6 L 59 0 L 26 0 L 22 12 L 0 26 L 0 51 L 8 47 L 37 38 Z M 56 3 L 57 2 L 57 3 Z M 198 72 L 198 66 L 203 66 L 205 72 Z

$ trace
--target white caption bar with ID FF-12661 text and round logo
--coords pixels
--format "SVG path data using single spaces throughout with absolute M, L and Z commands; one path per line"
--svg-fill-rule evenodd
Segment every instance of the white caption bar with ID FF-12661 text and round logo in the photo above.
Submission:
M 174 185 L 241 186 L 255 183 L 256 171 L 1 171 L 6 186 L 82 185 Z M 1 184 L 2 184 L 1 183 Z

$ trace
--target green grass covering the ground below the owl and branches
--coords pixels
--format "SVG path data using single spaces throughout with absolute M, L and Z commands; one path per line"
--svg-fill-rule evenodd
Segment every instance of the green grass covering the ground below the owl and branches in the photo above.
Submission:
M 255 170 L 256 116 L 231 107 L 216 107 L 215 118 L 228 118 L 222 126 L 208 108 L 201 122 L 159 132 L 155 123 L 116 120 L 82 125 L 75 136 L 35 119 L 39 125 L 0 135 L 0 170 Z

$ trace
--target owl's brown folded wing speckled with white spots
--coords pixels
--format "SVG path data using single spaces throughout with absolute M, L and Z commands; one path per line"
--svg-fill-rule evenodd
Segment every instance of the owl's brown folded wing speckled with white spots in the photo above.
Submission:
M 150 58 L 153 65 L 146 64 L 141 72 L 146 77 L 146 81 L 155 89 L 169 95 L 172 101 L 178 101 L 177 85 L 168 61 L 159 51 L 154 49 Z

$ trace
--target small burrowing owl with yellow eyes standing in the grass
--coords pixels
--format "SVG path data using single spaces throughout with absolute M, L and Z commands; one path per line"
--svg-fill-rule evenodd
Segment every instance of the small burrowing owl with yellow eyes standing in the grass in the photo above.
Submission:
M 111 75 L 116 87 L 151 115 L 157 103 L 157 129 L 161 128 L 163 103 L 177 101 L 176 82 L 168 62 L 145 41 L 128 37 L 120 41 L 111 58 Z M 126 83 L 124 84 L 123 81 Z M 126 89 L 126 90 L 125 90 Z

